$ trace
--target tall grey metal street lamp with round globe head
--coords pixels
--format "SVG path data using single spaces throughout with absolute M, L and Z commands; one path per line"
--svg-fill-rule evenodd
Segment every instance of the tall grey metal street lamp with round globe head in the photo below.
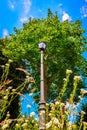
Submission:
M 46 49 L 44 42 L 39 43 L 39 49 L 41 52 L 41 77 L 40 77 L 40 102 L 39 102 L 39 117 L 40 124 L 39 130 L 46 130 L 46 101 L 44 95 L 44 64 L 43 64 L 43 53 Z

